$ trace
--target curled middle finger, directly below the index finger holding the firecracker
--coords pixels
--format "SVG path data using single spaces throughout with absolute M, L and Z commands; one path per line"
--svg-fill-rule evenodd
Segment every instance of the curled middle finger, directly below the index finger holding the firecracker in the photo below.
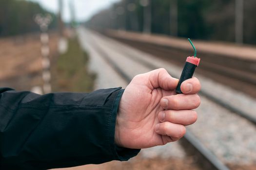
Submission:
M 200 102 L 200 97 L 197 94 L 177 94 L 163 97 L 160 105 L 164 109 L 185 110 L 196 109 Z

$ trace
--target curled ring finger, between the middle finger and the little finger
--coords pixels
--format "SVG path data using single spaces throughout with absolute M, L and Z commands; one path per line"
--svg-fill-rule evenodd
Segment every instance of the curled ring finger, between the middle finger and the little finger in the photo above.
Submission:
M 165 110 L 158 114 L 158 119 L 160 122 L 169 121 L 187 126 L 197 121 L 197 112 L 195 110 Z

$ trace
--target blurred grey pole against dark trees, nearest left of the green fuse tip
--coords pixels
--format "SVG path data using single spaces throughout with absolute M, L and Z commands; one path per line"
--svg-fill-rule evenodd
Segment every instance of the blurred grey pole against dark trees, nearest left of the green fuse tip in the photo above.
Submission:
M 170 35 L 178 36 L 177 0 L 170 0 Z

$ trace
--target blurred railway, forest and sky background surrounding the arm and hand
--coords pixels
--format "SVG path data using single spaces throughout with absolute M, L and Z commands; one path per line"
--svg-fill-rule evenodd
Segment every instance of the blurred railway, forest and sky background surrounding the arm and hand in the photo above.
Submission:
M 0 86 L 90 92 L 165 68 L 197 48 L 198 121 L 128 162 L 68 170 L 255 170 L 255 0 L 0 0 Z

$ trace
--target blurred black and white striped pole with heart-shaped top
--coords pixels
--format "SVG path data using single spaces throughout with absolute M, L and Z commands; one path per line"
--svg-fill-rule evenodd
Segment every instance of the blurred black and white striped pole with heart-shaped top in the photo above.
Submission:
M 50 15 L 42 16 L 38 14 L 35 17 L 36 23 L 39 25 L 41 30 L 40 40 L 41 40 L 41 54 L 42 54 L 42 80 L 43 80 L 43 93 L 50 93 L 52 91 L 51 86 L 51 72 L 50 72 L 50 48 L 49 48 L 49 34 L 48 26 L 52 21 Z

